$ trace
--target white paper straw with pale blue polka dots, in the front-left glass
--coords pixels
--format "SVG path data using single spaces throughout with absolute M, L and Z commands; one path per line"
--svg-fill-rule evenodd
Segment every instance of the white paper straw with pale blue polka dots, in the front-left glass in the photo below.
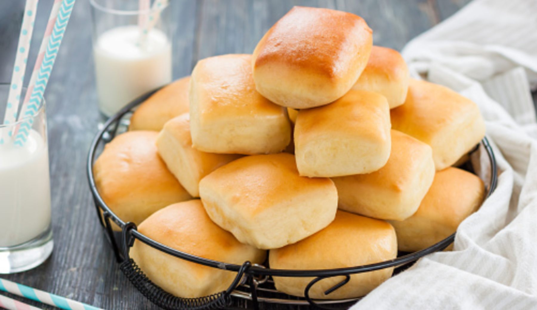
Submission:
M 19 43 L 17 55 L 11 75 L 11 84 L 8 94 L 8 105 L 5 110 L 4 124 L 14 123 L 17 120 L 19 109 L 20 93 L 23 90 L 24 72 L 26 71 L 26 61 L 30 43 L 32 42 L 33 23 L 37 13 L 38 0 L 26 0 L 24 6 L 23 24 L 20 27 Z

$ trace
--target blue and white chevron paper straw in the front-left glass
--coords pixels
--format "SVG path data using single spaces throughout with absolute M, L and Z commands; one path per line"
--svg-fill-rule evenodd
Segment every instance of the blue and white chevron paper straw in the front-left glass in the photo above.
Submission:
M 69 17 L 71 16 L 72 8 L 75 6 L 75 2 L 76 0 L 63 0 L 62 5 L 60 6 L 56 23 L 54 24 L 52 34 L 50 35 L 45 56 L 43 57 L 41 68 L 39 68 L 37 80 L 35 81 L 35 85 L 30 96 L 30 101 L 28 101 L 28 106 L 25 108 L 26 112 L 24 113 L 23 117 L 34 116 L 41 105 L 43 94 L 45 93 L 45 88 L 47 87 L 48 79 L 50 78 L 50 72 L 52 72 L 54 61 L 56 60 L 56 56 L 60 50 L 63 34 L 66 31 Z M 26 142 L 28 134 L 30 134 L 30 130 L 32 129 L 32 124 L 33 119 L 30 118 L 20 125 L 15 136 L 16 145 L 22 146 Z

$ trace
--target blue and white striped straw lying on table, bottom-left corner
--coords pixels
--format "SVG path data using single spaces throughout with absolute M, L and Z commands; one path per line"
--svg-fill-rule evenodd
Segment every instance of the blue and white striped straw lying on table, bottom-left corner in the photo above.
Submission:
M 42 304 L 47 304 L 64 310 L 103 310 L 101 308 L 86 305 L 82 302 L 60 297 L 52 293 L 32 289 L 32 287 L 14 283 L 2 278 L 0 278 L 0 291 L 25 297 L 34 301 L 39 301 Z M 2 306 L 0 305 L 0 307 Z

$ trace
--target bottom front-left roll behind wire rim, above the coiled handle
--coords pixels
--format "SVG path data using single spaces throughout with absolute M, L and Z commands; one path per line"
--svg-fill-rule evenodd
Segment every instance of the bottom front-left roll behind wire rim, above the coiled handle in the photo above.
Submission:
M 235 264 L 263 263 L 265 259 L 265 251 L 243 245 L 214 224 L 199 200 L 166 206 L 144 220 L 138 231 L 165 246 L 205 259 Z M 183 298 L 226 290 L 237 275 L 173 257 L 139 240 L 130 256 L 156 285 Z

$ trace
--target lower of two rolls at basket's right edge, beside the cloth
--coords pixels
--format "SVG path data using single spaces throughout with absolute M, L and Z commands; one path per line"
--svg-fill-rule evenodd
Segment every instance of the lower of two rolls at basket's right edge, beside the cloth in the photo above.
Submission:
M 449 237 L 479 208 L 484 195 L 483 181 L 476 175 L 453 167 L 438 171 L 418 211 L 401 222 L 390 222 L 399 249 L 415 252 Z

